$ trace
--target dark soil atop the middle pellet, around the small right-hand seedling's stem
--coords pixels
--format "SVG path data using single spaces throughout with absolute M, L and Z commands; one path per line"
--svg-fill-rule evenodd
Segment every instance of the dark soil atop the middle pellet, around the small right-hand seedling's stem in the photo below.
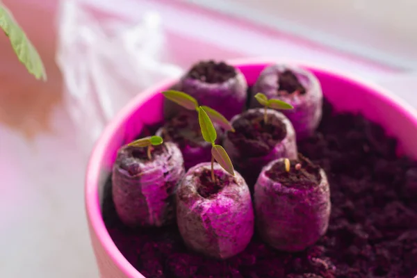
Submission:
M 286 126 L 281 120 L 268 115 L 263 121 L 263 113 L 242 113 L 233 123 L 235 132 L 227 136 L 239 150 L 242 157 L 265 156 L 286 137 Z

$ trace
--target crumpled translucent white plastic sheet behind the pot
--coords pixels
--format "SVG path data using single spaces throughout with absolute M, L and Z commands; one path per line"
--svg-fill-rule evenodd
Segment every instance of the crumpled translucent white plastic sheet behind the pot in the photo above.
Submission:
M 67 110 L 83 147 L 90 149 L 129 99 L 181 74 L 181 67 L 164 51 L 161 20 L 153 11 L 131 22 L 85 3 L 62 2 L 57 60 L 65 79 Z

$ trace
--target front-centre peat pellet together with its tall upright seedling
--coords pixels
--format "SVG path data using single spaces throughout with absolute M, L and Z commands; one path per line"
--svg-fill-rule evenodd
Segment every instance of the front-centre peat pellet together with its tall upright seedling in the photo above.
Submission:
M 227 259 L 250 243 L 254 232 L 252 199 L 226 151 L 215 145 L 217 135 L 202 106 L 198 116 L 204 140 L 212 145 L 212 158 L 211 163 L 191 167 L 183 177 L 177 190 L 177 224 L 188 247 Z

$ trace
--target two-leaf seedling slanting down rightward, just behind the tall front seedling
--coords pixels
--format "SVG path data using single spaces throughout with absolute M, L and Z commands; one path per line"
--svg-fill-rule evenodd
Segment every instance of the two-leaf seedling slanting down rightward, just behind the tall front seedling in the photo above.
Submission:
M 167 90 L 163 92 L 163 95 L 167 99 L 170 99 L 170 101 L 174 101 L 176 104 L 183 106 L 183 108 L 186 108 L 191 111 L 197 111 L 197 113 L 199 113 L 199 108 L 202 107 L 204 108 L 204 111 L 206 112 L 208 117 L 210 117 L 211 121 L 222 126 L 222 128 L 226 131 L 235 131 L 233 126 L 231 126 L 230 122 L 222 114 L 218 113 L 218 111 L 215 111 L 213 108 L 210 108 L 208 106 L 199 106 L 197 99 L 191 97 L 190 95 L 187 95 L 185 92 Z

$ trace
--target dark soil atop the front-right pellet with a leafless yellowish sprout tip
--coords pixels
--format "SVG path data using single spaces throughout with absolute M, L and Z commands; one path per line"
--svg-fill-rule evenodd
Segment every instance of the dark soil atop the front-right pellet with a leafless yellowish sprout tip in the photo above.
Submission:
M 312 163 L 308 158 L 298 154 L 298 159 L 290 160 L 290 170 L 286 171 L 284 162 L 277 162 L 266 176 L 289 188 L 309 188 L 320 184 L 320 167 Z

